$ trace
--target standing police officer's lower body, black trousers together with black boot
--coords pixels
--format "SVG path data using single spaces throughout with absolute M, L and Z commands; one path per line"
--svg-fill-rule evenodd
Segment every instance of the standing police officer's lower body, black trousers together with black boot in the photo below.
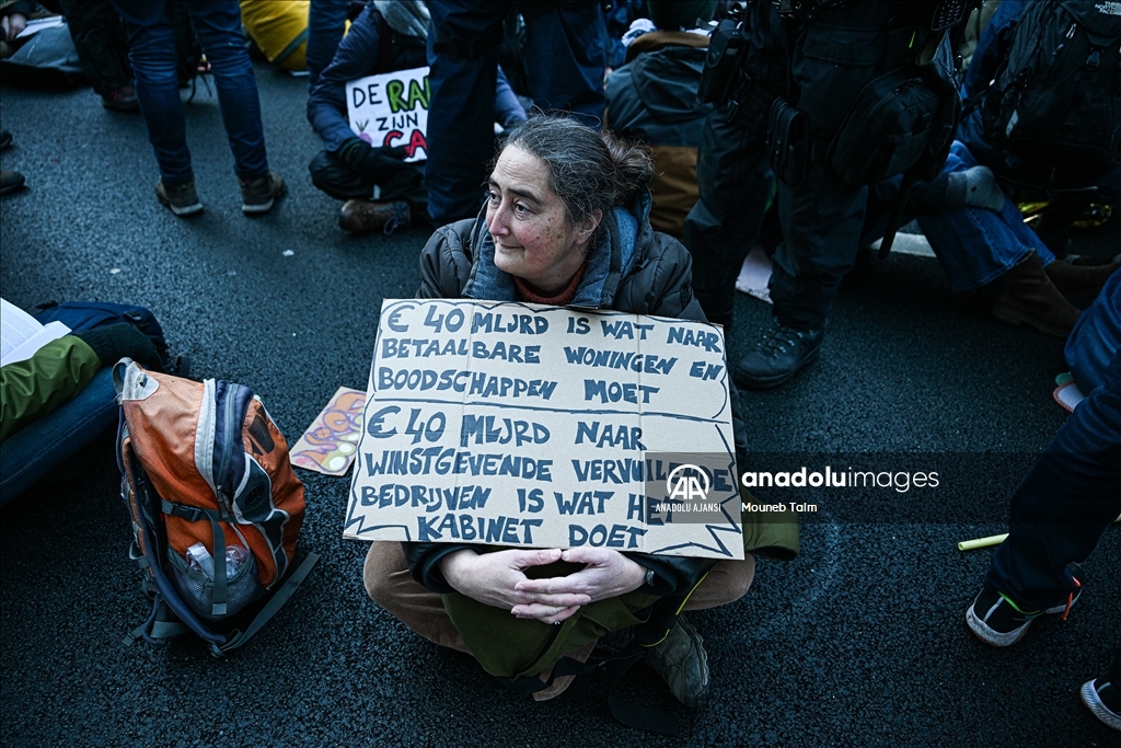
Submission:
M 852 186 L 833 169 L 830 145 L 861 90 L 911 63 L 932 37 L 928 2 L 782 3 L 810 8 L 799 17 L 780 17 L 779 4 L 757 1 L 747 9 L 741 67 L 705 123 L 700 201 L 685 222 L 694 290 L 711 320 L 729 324 L 735 277 L 772 188 L 771 107 L 782 98 L 805 116 L 804 178 L 795 186 L 778 181 L 782 242 L 770 279 L 777 324 L 734 368 L 736 381 L 752 388 L 780 385 L 816 359 L 825 317 L 855 261 L 868 196 L 867 186 Z

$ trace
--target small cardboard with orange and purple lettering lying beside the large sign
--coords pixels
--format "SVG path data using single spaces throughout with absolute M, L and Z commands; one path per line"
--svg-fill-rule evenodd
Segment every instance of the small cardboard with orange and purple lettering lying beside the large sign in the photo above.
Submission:
M 345 475 L 362 437 L 365 393 L 340 387 L 288 452 L 294 468 L 325 475 Z

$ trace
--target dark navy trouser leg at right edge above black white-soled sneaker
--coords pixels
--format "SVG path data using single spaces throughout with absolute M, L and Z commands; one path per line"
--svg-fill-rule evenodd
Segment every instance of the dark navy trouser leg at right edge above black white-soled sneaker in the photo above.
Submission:
M 1026 610 L 1062 603 L 1074 591 L 1067 564 L 1085 561 L 1119 512 L 1121 351 L 1012 496 L 1009 536 L 985 587 Z

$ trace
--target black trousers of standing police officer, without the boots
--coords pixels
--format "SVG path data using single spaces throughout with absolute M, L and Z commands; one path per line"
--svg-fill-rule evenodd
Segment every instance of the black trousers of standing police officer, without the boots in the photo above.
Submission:
M 773 257 L 770 296 L 779 322 L 818 329 L 853 266 L 867 187 L 841 181 L 826 153 L 861 89 L 895 66 L 888 61 L 886 0 L 850 3 L 795 29 L 770 3 L 756 3 L 744 30 L 747 70 L 809 120 L 813 158 L 798 187 L 778 182 L 782 242 Z M 904 50 L 906 53 L 906 50 Z M 742 98 L 736 119 L 714 111 L 697 154 L 700 201 L 685 220 L 693 288 L 710 318 L 730 322 L 735 277 L 754 243 L 770 190 L 766 156 L 769 112 Z

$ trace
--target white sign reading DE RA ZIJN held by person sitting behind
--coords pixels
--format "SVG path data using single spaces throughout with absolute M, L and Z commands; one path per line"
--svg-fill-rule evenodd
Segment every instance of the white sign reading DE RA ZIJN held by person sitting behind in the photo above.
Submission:
M 404 146 L 407 161 L 424 160 L 429 99 L 427 67 L 351 81 L 346 84 L 351 130 L 374 147 Z

